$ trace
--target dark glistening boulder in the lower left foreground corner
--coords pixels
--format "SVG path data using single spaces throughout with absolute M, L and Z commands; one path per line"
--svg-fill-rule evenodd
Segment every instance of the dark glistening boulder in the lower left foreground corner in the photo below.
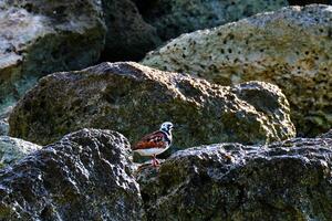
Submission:
M 83 129 L 0 171 L 1 220 L 143 220 L 129 144 Z

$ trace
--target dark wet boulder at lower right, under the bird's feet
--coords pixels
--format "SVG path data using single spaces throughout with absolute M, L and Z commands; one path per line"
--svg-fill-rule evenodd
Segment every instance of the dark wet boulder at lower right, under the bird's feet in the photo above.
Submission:
M 332 139 L 219 144 L 137 175 L 147 220 L 320 220 L 332 217 Z

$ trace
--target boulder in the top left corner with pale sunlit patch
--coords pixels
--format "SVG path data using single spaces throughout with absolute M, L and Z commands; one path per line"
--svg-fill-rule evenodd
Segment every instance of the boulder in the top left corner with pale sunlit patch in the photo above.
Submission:
M 0 2 L 0 113 L 55 71 L 100 57 L 105 28 L 98 0 Z

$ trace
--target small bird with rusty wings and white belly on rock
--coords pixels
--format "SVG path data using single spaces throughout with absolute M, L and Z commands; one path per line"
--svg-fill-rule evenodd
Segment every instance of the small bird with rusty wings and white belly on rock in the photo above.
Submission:
M 156 156 L 170 147 L 173 128 L 174 125 L 170 122 L 164 122 L 159 130 L 145 135 L 132 147 L 132 150 L 141 156 L 151 156 L 153 158 L 152 166 L 157 167 L 159 161 Z

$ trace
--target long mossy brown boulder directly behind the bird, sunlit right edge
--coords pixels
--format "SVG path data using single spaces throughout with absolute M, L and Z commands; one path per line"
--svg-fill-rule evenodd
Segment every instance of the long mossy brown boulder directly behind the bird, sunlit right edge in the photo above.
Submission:
M 82 127 L 111 128 L 137 141 L 166 120 L 178 125 L 173 148 L 179 149 L 294 136 L 288 102 L 272 84 L 224 87 L 132 62 L 43 77 L 14 107 L 9 124 L 11 136 L 44 145 Z

